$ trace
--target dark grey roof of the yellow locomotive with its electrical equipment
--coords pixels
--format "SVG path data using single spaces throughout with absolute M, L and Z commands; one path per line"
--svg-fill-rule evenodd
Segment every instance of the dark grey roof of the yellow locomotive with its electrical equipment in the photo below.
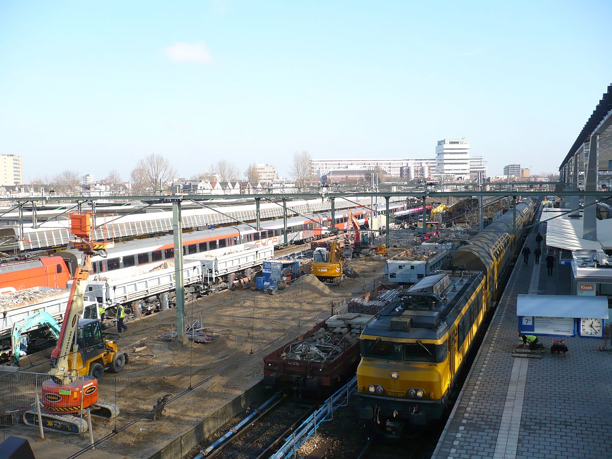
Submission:
M 482 272 L 448 273 L 424 277 L 395 300 L 365 327 L 362 337 L 387 340 L 439 340 L 483 280 Z

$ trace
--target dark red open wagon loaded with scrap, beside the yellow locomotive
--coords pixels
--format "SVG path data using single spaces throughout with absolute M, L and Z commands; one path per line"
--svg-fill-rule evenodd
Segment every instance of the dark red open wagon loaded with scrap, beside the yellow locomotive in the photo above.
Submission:
M 373 316 L 332 316 L 264 357 L 264 384 L 331 389 L 359 364 L 359 334 Z

